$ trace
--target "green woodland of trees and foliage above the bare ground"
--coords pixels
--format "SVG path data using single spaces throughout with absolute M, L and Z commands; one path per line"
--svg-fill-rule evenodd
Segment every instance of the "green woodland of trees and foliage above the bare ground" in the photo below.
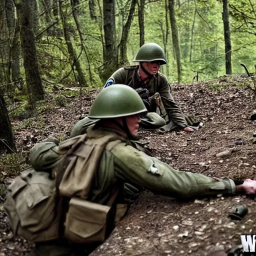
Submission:
M 255 0 L 1 0 L 0 148 L 15 151 L 13 101 L 29 117 L 48 91 L 102 86 L 145 42 L 170 82 L 191 82 L 253 71 L 255 35 Z

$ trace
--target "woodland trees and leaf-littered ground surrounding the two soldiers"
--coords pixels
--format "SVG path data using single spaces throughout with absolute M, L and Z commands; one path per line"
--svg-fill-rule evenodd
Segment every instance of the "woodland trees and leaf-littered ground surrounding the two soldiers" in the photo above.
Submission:
M 140 131 L 154 155 L 181 171 L 256 179 L 256 122 L 248 119 L 256 109 L 255 35 L 256 0 L 0 0 L 0 255 L 32 246 L 13 237 L 1 205 L 30 166 L 29 149 L 67 138 L 109 75 L 132 64 L 145 42 L 162 46 L 160 71 L 175 100 L 203 122 L 193 133 Z M 248 72 L 236 75 L 245 72 L 241 63 Z M 226 148 L 228 158 L 216 157 Z M 230 222 L 227 212 L 240 202 L 248 216 Z M 255 211 L 241 196 L 186 203 L 145 191 L 95 255 L 212 255 L 256 233 Z

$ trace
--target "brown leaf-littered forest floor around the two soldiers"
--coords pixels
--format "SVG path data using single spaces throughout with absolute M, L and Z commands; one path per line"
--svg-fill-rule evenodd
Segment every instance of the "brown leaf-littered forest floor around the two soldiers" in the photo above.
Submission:
M 141 130 L 153 155 L 181 171 L 209 176 L 256 179 L 256 150 L 252 143 L 256 122 L 249 120 L 256 108 L 244 75 L 173 85 L 173 96 L 186 114 L 193 113 L 203 126 L 196 132 L 174 131 L 164 134 Z M 49 135 L 63 139 L 73 124 L 84 116 L 98 90 L 83 96 L 67 95 L 60 107 L 49 94 L 37 117 L 12 118 L 18 152 L 27 162 L 31 146 Z M 60 93 L 60 91 L 58 91 Z M 225 158 L 216 154 L 229 150 Z M 12 176 L 6 175 L 9 183 Z M 0 202 L 3 202 L 0 197 Z M 246 204 L 248 214 L 232 220 L 228 212 Z M 108 239 L 91 255 L 213 255 L 240 243 L 240 234 L 256 234 L 256 203 L 249 197 L 200 198 L 177 201 L 143 191 L 128 214 L 117 224 Z M 14 238 L 0 208 L 0 256 L 25 255 L 32 245 Z M 218 254 L 216 254 L 218 255 Z M 220 254 L 219 254 L 220 255 Z

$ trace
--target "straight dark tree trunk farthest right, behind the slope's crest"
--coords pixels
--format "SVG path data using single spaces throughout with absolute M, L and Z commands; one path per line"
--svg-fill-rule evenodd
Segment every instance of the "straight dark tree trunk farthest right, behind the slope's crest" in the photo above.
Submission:
M 229 15 L 228 0 L 223 0 L 222 19 L 223 19 L 223 25 L 224 25 L 224 39 L 225 39 L 225 67 L 226 67 L 226 74 L 231 74 L 232 73 L 231 39 L 230 39 L 228 15 Z

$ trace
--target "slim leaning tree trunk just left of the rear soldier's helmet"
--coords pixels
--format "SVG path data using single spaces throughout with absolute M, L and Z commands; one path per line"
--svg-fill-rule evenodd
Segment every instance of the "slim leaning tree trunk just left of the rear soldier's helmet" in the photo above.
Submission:
M 121 65 L 128 63 L 127 40 L 128 40 L 130 25 L 131 25 L 131 22 L 133 19 L 133 14 L 135 11 L 135 4 L 136 4 L 136 0 L 131 0 L 130 10 L 129 10 L 129 14 L 127 17 L 127 21 L 122 28 L 122 35 L 121 35 L 121 40 L 120 40 L 120 44 L 119 44 L 119 46 L 120 46 L 120 64 Z

